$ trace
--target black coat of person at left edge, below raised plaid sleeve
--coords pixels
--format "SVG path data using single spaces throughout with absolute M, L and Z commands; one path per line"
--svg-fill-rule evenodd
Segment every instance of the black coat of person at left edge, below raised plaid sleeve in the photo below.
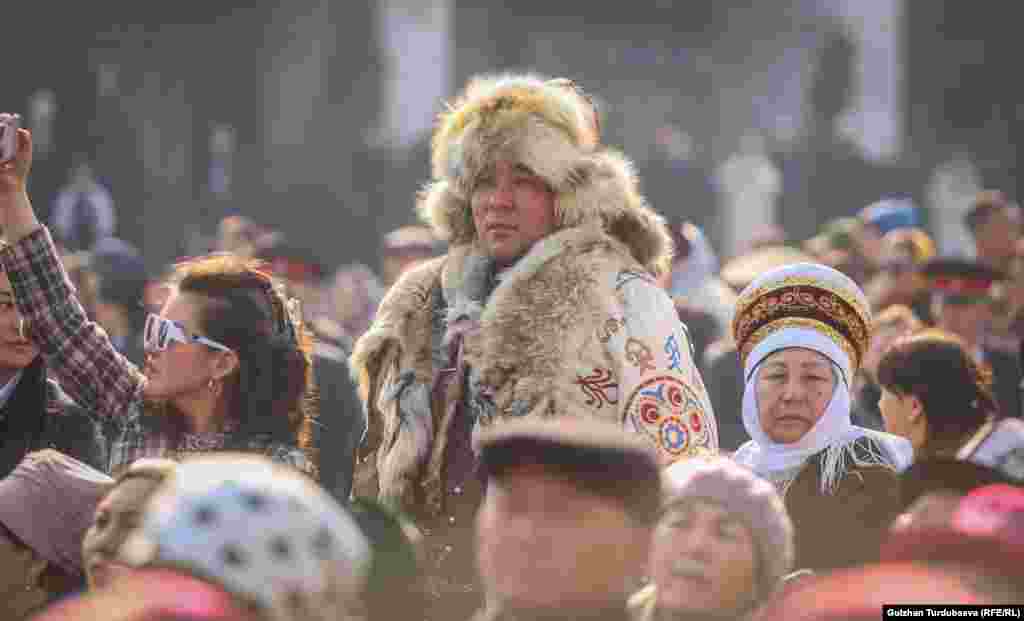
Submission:
M 106 471 L 106 446 L 96 419 L 46 377 L 42 357 L 25 368 L 0 408 L 0 477 L 32 451 L 55 449 Z

